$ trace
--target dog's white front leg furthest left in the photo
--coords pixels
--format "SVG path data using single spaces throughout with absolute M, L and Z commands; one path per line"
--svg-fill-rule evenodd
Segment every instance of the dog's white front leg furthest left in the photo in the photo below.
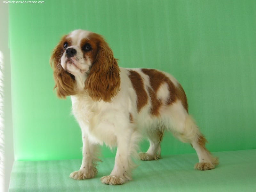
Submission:
M 69 177 L 76 180 L 84 180 L 93 178 L 98 170 L 96 169 L 98 154 L 98 145 L 89 142 L 87 136 L 83 133 L 83 160 L 82 165 L 78 171 L 70 173 Z

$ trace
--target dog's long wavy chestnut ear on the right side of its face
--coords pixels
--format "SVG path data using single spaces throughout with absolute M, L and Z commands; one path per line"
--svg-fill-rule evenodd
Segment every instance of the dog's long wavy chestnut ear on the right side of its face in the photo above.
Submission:
M 120 69 L 112 50 L 101 36 L 98 37 L 97 44 L 98 52 L 84 90 L 94 101 L 111 102 L 111 98 L 120 90 Z

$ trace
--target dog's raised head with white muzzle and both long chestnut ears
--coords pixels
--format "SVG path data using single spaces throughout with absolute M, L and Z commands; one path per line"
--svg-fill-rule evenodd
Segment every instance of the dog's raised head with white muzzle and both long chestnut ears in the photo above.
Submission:
M 55 88 L 60 98 L 87 92 L 110 102 L 120 90 L 117 60 L 104 38 L 84 30 L 63 36 L 51 57 Z

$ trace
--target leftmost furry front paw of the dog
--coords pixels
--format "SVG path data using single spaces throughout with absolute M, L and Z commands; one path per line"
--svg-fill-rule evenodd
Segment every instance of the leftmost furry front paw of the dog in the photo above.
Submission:
M 91 179 L 97 174 L 98 170 L 95 167 L 91 169 L 81 169 L 70 173 L 69 177 L 75 180 Z

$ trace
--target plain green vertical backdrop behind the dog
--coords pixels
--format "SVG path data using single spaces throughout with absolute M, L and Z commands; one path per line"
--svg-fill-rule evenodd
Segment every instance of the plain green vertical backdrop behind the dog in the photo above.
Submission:
M 49 64 L 60 37 L 77 28 L 104 35 L 122 67 L 175 76 L 211 151 L 256 148 L 255 10 L 254 0 L 10 4 L 15 159 L 82 157 L 70 98 L 56 97 Z M 181 153 L 194 150 L 166 133 L 162 154 Z M 115 155 L 106 147 L 102 154 Z

